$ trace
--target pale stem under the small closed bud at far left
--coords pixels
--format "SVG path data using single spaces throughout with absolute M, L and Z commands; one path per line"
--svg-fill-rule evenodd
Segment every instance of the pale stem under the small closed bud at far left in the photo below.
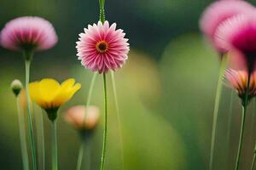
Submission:
M 18 114 L 18 120 L 19 120 L 20 148 L 21 148 L 23 169 L 28 170 L 29 162 L 28 162 L 28 153 L 27 153 L 27 147 L 26 147 L 26 129 L 25 129 L 24 115 L 22 111 L 20 111 L 19 97 L 16 97 L 16 105 L 17 105 L 17 114 Z

